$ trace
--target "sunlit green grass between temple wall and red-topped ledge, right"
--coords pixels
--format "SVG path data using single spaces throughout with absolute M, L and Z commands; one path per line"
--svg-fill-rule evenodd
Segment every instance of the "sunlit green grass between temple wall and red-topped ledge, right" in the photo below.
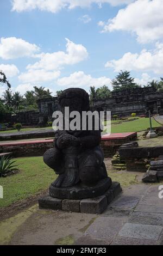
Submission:
M 160 124 L 152 119 L 152 126 L 159 127 Z M 115 132 L 139 132 L 147 130 L 149 127 L 149 118 L 139 118 L 135 121 L 123 122 L 122 124 L 111 124 L 111 133 Z

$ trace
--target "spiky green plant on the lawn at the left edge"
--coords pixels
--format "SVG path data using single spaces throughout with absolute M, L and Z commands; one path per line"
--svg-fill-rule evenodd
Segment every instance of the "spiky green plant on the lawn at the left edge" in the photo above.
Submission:
M 7 176 L 8 173 L 14 173 L 17 166 L 14 165 L 16 161 L 13 161 L 9 156 L 2 156 L 0 158 L 0 177 Z

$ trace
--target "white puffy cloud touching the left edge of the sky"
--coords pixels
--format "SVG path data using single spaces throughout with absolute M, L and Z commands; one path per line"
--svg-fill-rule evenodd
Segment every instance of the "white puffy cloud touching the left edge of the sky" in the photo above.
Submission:
M 39 50 L 35 44 L 29 44 L 21 38 L 1 38 L 0 57 L 3 59 L 34 57 L 34 53 Z

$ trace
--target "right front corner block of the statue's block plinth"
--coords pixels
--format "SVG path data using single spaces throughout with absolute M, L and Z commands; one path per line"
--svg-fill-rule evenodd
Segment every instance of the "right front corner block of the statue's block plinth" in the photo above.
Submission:
M 108 206 L 105 196 L 83 199 L 80 201 L 80 212 L 86 214 L 101 214 Z

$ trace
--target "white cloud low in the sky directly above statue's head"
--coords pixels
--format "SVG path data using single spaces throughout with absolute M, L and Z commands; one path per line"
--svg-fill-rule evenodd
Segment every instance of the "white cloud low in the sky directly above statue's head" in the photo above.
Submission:
M 68 77 L 62 77 L 57 80 L 59 86 L 68 87 L 82 87 L 89 88 L 90 86 L 101 87 L 104 84 L 110 86 L 111 80 L 108 77 L 102 76 L 93 78 L 91 75 L 86 75 L 83 71 L 74 72 Z

